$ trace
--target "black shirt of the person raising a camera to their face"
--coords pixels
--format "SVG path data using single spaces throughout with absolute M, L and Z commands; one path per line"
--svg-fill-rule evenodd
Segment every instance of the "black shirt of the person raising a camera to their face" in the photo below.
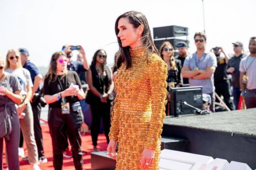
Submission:
M 227 63 L 225 58 L 217 59 L 217 68 L 214 72 L 214 83 L 220 83 L 227 80 Z

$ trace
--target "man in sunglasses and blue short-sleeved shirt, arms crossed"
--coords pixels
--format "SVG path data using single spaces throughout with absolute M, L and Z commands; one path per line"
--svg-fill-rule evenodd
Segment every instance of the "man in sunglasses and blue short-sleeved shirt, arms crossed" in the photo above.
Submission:
M 206 35 L 197 32 L 194 35 L 196 52 L 186 57 L 182 68 L 183 78 L 189 78 L 189 86 L 202 86 L 202 92 L 211 96 L 210 110 L 214 112 L 215 87 L 214 71 L 217 59 L 213 52 L 206 51 Z

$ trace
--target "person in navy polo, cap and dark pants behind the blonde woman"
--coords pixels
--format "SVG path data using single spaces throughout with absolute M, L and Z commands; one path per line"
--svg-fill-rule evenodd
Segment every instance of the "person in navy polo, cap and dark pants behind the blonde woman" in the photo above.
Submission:
M 40 163 L 46 163 L 47 158 L 45 158 L 45 154 L 43 151 L 43 136 L 42 136 L 42 129 L 40 126 L 40 116 L 41 116 L 41 108 L 42 105 L 45 104 L 40 101 L 41 95 L 39 95 L 39 84 L 42 82 L 42 75 L 39 73 L 39 70 L 36 65 L 34 65 L 29 60 L 29 52 L 26 48 L 19 48 L 20 57 L 21 57 L 21 64 L 23 68 L 29 70 L 30 76 L 33 82 L 32 87 L 32 99 L 30 100 L 32 111 L 33 111 L 33 118 L 34 118 L 34 137 L 37 143 L 37 150 L 38 150 L 38 160 Z

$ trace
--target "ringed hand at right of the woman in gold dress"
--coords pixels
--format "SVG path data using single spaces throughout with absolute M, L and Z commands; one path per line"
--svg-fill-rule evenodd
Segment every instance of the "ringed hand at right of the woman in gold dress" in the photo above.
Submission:
M 149 167 L 154 160 L 155 157 L 155 150 L 144 148 L 142 152 L 142 158 L 140 159 L 140 164 L 142 168 Z

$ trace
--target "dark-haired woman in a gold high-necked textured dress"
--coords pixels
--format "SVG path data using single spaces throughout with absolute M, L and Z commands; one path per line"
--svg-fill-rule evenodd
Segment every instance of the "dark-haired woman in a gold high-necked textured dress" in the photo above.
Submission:
M 165 117 L 167 66 L 157 55 L 148 21 L 130 11 L 116 20 L 120 45 L 107 154 L 116 169 L 158 169 Z M 116 145 L 118 142 L 118 153 Z

